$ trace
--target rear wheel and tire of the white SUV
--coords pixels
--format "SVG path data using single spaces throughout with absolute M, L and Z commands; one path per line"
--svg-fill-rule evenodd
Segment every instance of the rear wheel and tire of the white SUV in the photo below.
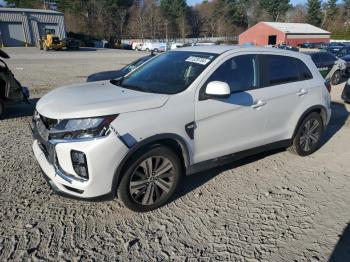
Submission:
M 323 120 L 319 113 L 313 112 L 301 122 L 288 148 L 293 154 L 308 156 L 319 149 L 324 131 Z

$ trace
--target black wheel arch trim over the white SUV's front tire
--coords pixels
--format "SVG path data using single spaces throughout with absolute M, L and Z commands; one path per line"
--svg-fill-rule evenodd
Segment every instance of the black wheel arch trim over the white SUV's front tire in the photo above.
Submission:
M 187 143 L 184 138 L 176 134 L 158 134 L 152 137 L 146 138 L 130 148 L 130 151 L 126 154 L 123 160 L 117 167 L 116 172 L 114 173 L 112 189 L 111 192 L 113 195 L 116 195 L 117 188 L 119 186 L 120 180 L 123 176 L 123 172 L 128 164 L 128 162 L 141 150 L 152 148 L 156 145 L 163 145 L 175 153 L 179 154 L 183 168 L 186 170 L 190 166 L 190 153 L 187 146 Z

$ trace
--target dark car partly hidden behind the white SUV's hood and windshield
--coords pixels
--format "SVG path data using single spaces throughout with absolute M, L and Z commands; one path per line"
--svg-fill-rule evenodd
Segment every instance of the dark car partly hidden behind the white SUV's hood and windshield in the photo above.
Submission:
M 116 79 L 125 76 L 132 70 L 134 70 L 136 67 L 146 63 L 148 60 L 150 60 L 152 57 L 155 55 L 151 53 L 148 56 L 141 57 L 137 59 L 136 61 L 132 62 L 131 64 L 123 67 L 120 70 L 115 70 L 115 71 L 105 71 L 105 72 L 99 72 L 92 74 L 87 77 L 86 82 L 96 82 L 96 81 L 104 81 L 104 80 L 111 80 L 111 79 Z

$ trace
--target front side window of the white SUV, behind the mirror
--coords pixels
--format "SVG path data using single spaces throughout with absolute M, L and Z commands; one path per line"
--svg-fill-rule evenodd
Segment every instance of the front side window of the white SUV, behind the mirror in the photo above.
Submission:
M 225 82 L 232 94 L 258 88 L 258 79 L 257 55 L 240 55 L 224 62 L 206 84 L 212 81 Z

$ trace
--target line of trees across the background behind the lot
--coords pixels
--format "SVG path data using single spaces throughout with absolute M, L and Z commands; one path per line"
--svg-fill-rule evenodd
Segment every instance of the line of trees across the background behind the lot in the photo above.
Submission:
M 68 31 L 117 41 L 237 35 L 260 21 L 310 23 L 350 37 L 350 0 L 7 0 L 9 6 L 65 13 Z

